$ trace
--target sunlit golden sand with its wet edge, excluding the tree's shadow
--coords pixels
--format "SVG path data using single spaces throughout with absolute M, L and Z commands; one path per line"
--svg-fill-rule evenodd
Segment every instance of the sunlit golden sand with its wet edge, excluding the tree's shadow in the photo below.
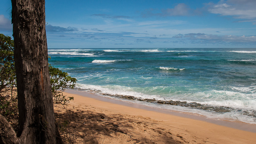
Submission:
M 174 140 L 172 143 L 195 144 L 256 143 L 256 125 L 253 124 L 224 120 L 213 120 L 214 122 L 212 122 L 212 120 L 209 121 L 202 116 L 166 112 L 160 109 L 152 109 L 146 106 L 100 97 L 78 90 L 66 90 L 64 94 L 74 96 L 74 101 L 71 101 L 68 107 L 74 110 L 75 115 L 77 115 L 75 112 L 90 111 L 107 117 L 97 120 L 95 122 L 97 124 L 101 124 L 106 120 L 110 121 L 113 118 L 116 119 L 112 123 L 118 123 L 118 128 L 122 131 L 100 135 L 99 137 L 104 137 L 104 143 L 108 143 L 107 141 L 109 143 L 131 143 L 132 141 L 129 140 L 130 137 L 132 137 L 132 140 L 136 140 L 136 142 L 140 140 L 141 143 L 151 140 L 152 143 L 153 140 L 157 141 L 157 143 L 167 143 L 168 140 Z M 55 108 L 54 110 L 56 110 Z M 99 116 L 99 118 L 101 117 Z M 82 126 L 79 126 L 79 128 L 82 129 Z M 236 129 L 234 128 L 235 126 Z M 97 132 L 100 134 L 100 131 Z M 79 131 L 79 133 L 81 132 Z M 87 135 L 85 134 L 85 136 Z M 126 136 L 127 138 L 125 138 Z M 149 137 L 149 139 L 144 140 L 144 136 L 145 138 Z M 168 143 L 171 142 L 168 141 Z

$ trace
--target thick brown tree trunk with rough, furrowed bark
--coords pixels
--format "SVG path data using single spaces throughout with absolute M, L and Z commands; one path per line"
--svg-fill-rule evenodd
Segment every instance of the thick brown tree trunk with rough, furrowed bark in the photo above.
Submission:
M 55 124 L 44 0 L 11 0 L 19 143 L 63 143 Z

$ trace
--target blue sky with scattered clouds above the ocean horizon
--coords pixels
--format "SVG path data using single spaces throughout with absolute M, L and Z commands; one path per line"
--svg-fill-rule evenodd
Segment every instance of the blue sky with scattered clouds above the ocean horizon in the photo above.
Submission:
M 48 48 L 256 48 L 255 0 L 46 0 Z M 12 35 L 11 1 L 0 33 Z

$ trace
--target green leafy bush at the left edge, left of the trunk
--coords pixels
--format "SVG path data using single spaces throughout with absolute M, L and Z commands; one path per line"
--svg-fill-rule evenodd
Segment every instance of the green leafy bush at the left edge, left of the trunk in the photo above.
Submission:
M 18 119 L 13 40 L 0 34 L 0 114 L 11 123 Z

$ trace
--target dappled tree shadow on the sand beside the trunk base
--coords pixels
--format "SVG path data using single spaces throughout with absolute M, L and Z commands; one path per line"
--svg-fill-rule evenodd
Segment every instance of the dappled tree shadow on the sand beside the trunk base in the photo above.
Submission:
M 179 134 L 172 134 L 170 129 L 158 127 L 150 118 L 71 109 L 62 107 L 55 111 L 60 133 L 67 143 L 188 143 Z

